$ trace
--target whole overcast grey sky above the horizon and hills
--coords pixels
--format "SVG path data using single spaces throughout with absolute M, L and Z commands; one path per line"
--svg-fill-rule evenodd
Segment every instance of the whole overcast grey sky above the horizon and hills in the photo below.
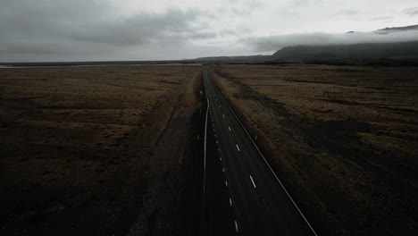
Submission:
M 0 0 L 0 61 L 271 55 L 297 44 L 412 40 L 418 30 L 373 31 L 414 24 L 417 0 Z

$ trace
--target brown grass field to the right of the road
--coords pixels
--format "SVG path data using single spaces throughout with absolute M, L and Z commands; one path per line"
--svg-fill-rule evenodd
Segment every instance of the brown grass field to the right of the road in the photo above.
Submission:
M 418 235 L 418 68 L 222 65 L 213 77 L 321 235 Z

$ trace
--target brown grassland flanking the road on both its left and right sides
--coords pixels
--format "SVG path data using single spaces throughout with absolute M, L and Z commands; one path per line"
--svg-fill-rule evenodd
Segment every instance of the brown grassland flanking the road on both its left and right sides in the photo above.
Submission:
M 192 235 L 201 69 L 1 68 L 0 234 Z M 418 234 L 418 68 L 211 70 L 320 235 Z

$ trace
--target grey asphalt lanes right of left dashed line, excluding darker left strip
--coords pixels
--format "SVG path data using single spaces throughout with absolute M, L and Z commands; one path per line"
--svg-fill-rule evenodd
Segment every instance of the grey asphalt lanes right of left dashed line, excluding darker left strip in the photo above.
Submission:
M 281 184 L 255 142 L 248 135 L 208 72 L 205 93 L 219 168 L 231 207 L 230 224 L 238 235 L 316 235 L 288 191 Z M 214 158 L 206 156 L 206 158 Z M 207 180 L 205 180 L 207 181 Z M 205 195 L 211 192 L 205 191 Z

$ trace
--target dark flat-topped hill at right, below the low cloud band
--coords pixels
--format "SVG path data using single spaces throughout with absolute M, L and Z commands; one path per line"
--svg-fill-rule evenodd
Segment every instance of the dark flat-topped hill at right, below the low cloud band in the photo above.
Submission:
M 418 41 L 329 46 L 286 46 L 272 55 L 272 60 L 339 58 L 418 58 Z

